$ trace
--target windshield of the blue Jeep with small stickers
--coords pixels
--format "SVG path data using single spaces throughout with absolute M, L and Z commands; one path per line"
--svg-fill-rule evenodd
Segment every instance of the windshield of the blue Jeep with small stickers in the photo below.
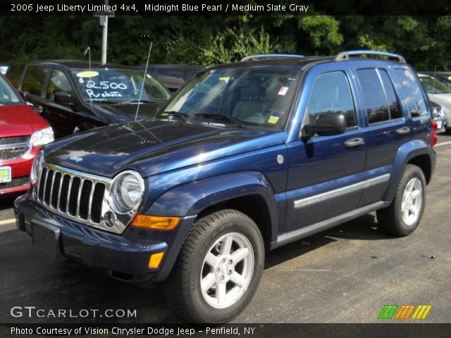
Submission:
M 208 70 L 194 77 L 157 118 L 182 114 L 209 123 L 282 129 L 299 77 L 299 73 L 283 68 Z

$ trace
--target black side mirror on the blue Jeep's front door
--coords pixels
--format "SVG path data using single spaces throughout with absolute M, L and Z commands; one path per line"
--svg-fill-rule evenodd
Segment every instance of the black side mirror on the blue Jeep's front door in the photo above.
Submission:
M 345 114 L 332 113 L 330 111 L 321 113 L 314 125 L 304 125 L 302 138 L 309 139 L 315 133 L 320 136 L 342 134 L 346 131 Z

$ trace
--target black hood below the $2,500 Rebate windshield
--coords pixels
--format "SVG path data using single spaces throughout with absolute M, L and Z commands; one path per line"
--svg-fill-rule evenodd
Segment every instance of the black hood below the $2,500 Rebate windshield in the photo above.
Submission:
M 151 102 L 140 104 L 137 120 L 153 118 L 158 108 L 164 102 Z M 95 110 L 104 116 L 105 122 L 108 124 L 123 123 L 135 120 L 136 109 L 138 104 L 95 104 Z

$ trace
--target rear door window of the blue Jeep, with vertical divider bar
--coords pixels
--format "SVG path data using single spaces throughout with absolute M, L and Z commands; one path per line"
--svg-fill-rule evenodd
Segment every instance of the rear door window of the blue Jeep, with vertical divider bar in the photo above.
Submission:
M 393 83 L 385 70 L 359 69 L 357 77 L 364 94 L 369 124 L 402 117 Z

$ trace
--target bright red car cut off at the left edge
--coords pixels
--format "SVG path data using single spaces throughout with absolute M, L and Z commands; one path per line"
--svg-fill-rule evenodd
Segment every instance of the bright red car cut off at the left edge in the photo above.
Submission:
M 37 151 L 53 140 L 49 123 L 0 75 L 0 196 L 28 189 Z

